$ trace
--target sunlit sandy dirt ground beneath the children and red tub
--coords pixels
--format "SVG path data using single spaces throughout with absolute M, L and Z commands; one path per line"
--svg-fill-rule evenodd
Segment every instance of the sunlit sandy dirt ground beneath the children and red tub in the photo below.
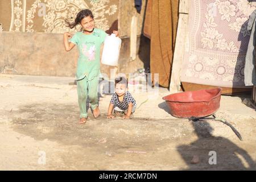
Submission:
M 100 118 L 89 110 L 79 125 L 73 78 L 0 75 L 1 170 L 255 170 L 256 112 L 243 104 L 250 95 L 221 96 L 218 121 L 174 118 L 160 88 L 130 120 L 106 119 L 110 94 L 100 97 Z M 214 164 L 211 152 L 216 152 Z M 196 164 L 192 164 L 194 158 Z

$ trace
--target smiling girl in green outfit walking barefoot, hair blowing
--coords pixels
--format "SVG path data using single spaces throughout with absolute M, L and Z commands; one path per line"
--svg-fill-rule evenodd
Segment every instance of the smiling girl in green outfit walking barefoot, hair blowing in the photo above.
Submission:
M 86 123 L 88 114 L 86 111 L 86 99 L 89 96 L 90 106 L 94 118 L 100 115 L 98 108 L 98 78 L 100 75 L 100 50 L 101 44 L 108 34 L 103 30 L 94 28 L 92 11 L 86 9 L 80 11 L 74 23 L 66 21 L 69 28 L 81 25 L 81 31 L 72 36 L 64 33 L 65 51 L 70 51 L 76 45 L 79 47 L 79 60 L 77 61 L 77 96 L 80 108 L 79 123 Z M 118 36 L 118 31 L 113 31 Z M 68 40 L 71 38 L 70 40 Z

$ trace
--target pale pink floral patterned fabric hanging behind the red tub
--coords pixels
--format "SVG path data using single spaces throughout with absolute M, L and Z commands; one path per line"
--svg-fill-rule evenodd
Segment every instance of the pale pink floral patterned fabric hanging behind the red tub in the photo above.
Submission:
M 181 81 L 241 88 L 256 2 L 195 0 L 189 12 L 189 38 Z

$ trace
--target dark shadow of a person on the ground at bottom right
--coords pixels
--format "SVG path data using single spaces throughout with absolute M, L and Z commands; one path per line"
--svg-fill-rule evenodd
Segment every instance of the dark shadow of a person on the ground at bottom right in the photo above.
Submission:
M 205 121 L 192 122 L 198 139 L 188 145 L 177 147 L 187 170 L 251 170 L 255 162 L 247 151 L 229 139 L 214 137 L 213 128 Z

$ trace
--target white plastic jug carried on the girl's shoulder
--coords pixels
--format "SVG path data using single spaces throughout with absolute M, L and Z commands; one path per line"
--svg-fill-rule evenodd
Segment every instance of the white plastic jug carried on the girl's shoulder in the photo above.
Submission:
M 117 36 L 115 36 L 115 34 L 106 36 L 106 39 L 104 42 L 104 48 L 102 52 L 102 59 L 101 59 L 102 64 L 106 64 L 110 66 L 118 65 L 118 58 L 119 58 L 121 43 L 122 43 L 122 40 Z

